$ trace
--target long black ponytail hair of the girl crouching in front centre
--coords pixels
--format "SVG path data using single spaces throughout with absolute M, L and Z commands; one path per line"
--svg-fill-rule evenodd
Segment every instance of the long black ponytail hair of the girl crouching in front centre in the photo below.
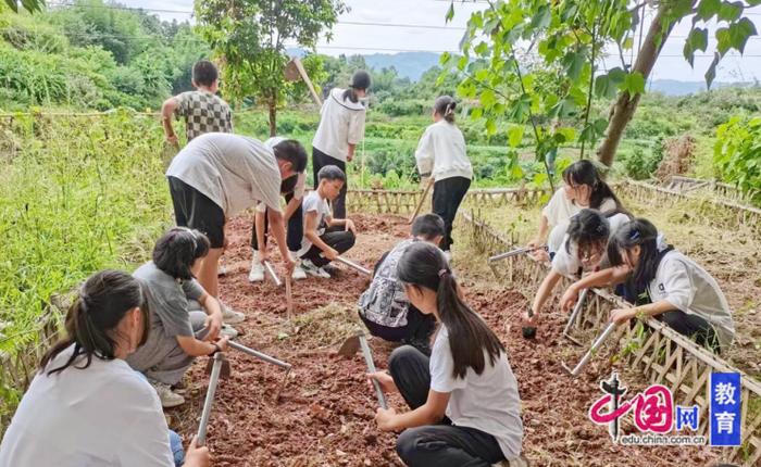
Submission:
M 397 266 L 402 283 L 436 291 L 438 317 L 447 327 L 452 351 L 454 378 L 464 378 L 467 368 L 481 375 L 486 367 L 484 351 L 494 366 L 504 346 L 497 336 L 458 294 L 458 286 L 446 257 L 433 244 L 417 242 L 402 254 Z

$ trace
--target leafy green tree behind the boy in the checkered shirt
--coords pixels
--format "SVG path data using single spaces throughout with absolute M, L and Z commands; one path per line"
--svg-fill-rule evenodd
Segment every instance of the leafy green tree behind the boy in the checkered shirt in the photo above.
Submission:
M 286 43 L 314 49 L 321 34 L 346 11 L 341 0 L 204 0 L 196 2 L 199 30 L 223 62 L 225 90 L 234 99 L 254 97 L 270 112 L 270 134 L 277 128 L 277 106 L 285 99 Z

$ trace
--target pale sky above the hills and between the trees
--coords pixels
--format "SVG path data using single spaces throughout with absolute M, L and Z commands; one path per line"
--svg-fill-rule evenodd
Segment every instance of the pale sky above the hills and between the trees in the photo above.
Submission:
M 449 0 L 345 0 L 351 11 L 339 17 L 334 26 L 333 40 L 320 41 L 317 51 L 328 55 L 340 53 L 395 53 L 397 51 L 457 51 L 464 26 L 473 11 L 487 7 L 484 0 L 454 2 L 454 18 L 449 24 L 445 16 Z M 194 0 L 120 0 L 127 7 L 167 10 L 157 13 L 162 20 L 192 21 Z M 170 12 L 176 11 L 176 12 Z M 761 7 L 746 13 L 761 31 Z M 357 23 L 384 23 L 397 26 L 378 26 Z M 649 22 L 646 18 L 646 27 Z M 402 27 L 411 25 L 415 27 Z M 431 26 L 431 27 L 420 27 Z M 718 26 L 709 25 L 709 37 Z M 690 29 L 690 21 L 676 25 L 666 41 L 661 56 L 650 76 L 651 79 L 677 79 L 683 81 L 702 81 L 706 70 L 711 63 L 715 41 L 709 40 L 708 52 L 698 52 L 695 70 L 682 56 L 684 38 Z M 347 48 L 348 47 L 348 48 Z M 612 51 L 610 51 L 612 52 Z M 706 55 L 706 56 L 699 56 Z M 621 66 L 617 58 L 609 58 L 607 67 Z M 745 56 L 733 50 L 719 65 L 719 81 L 761 80 L 761 36 L 752 36 L 746 46 Z

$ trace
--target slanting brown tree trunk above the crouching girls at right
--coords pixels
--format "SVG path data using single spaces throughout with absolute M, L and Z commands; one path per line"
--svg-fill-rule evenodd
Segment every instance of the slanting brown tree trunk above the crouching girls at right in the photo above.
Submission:
M 652 72 L 652 67 L 656 65 L 658 55 L 661 53 L 661 49 L 663 49 L 663 45 L 669 38 L 671 29 L 674 26 L 672 23 L 665 33 L 663 33 L 660 45 L 657 43 L 658 36 L 661 34 L 661 22 L 663 21 L 665 7 L 661 5 L 658 9 L 658 14 L 650 24 L 650 29 L 647 33 L 645 45 L 637 54 L 637 61 L 634 63 L 633 72 L 641 73 L 646 83 L 650 76 L 650 72 Z M 606 132 L 604 139 L 600 143 L 600 148 L 597 150 L 598 159 L 607 166 L 613 164 L 615 151 L 619 149 L 619 142 L 621 142 L 626 125 L 628 125 L 629 121 L 634 116 L 634 112 L 637 110 L 640 97 L 641 94 L 635 94 L 632 97 L 627 91 L 624 91 L 619 94 L 619 100 L 610 111 L 608 131 Z

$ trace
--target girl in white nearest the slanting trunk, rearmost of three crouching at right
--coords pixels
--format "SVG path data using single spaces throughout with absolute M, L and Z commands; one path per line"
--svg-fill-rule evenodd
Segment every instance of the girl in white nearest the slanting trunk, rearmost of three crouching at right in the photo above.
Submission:
M 528 247 L 541 247 L 547 240 L 547 234 L 556 226 L 562 226 L 561 232 L 567 227 L 567 222 L 584 207 L 600 212 L 619 210 L 624 212 L 623 204 L 615 197 L 608 184 L 602 181 L 595 164 L 588 160 L 576 161 L 563 171 L 565 187 L 554 192 L 549 203 L 541 210 L 539 231 L 528 242 Z M 553 236 L 559 238 L 560 236 Z M 535 254 L 540 258 L 541 253 Z

